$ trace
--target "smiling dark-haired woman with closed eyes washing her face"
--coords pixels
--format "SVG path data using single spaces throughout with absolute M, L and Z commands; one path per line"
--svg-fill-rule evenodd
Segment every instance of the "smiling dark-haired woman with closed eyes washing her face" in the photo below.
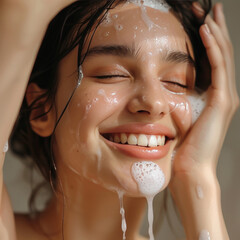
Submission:
M 48 26 L 72 2 L 0 3 L 1 146 L 25 95 L 13 147 L 55 191 L 14 224 L 1 182 L 1 239 L 143 239 L 143 197 L 151 210 L 168 184 L 187 239 L 228 239 L 215 169 L 238 96 L 221 5 L 202 25 L 207 3 L 77 1 Z

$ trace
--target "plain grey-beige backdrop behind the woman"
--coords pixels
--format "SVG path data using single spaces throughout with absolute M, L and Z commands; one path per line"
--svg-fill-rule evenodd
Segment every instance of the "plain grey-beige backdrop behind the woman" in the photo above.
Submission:
M 224 3 L 224 12 L 235 48 L 237 87 L 238 92 L 240 92 L 240 1 L 222 0 L 221 2 Z M 218 176 L 222 189 L 223 213 L 231 240 L 240 239 L 239 120 L 240 110 L 235 115 L 228 131 L 218 166 Z M 7 154 L 4 168 L 4 178 L 12 198 L 14 209 L 16 211 L 27 211 L 27 199 L 32 189 L 29 182 L 31 178 L 37 179 L 36 174 L 31 175 L 30 171 L 23 167 L 20 161 L 16 160 L 10 152 Z M 172 212 L 170 211 L 170 214 Z M 183 230 L 179 222 L 175 219 L 172 223 L 177 235 L 172 233 L 165 219 L 157 239 L 176 240 L 183 236 Z

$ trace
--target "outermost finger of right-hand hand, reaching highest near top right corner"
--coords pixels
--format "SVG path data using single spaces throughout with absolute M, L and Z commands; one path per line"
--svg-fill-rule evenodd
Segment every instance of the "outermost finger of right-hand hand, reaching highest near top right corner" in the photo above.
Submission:
M 223 13 L 223 5 L 221 3 L 215 4 L 215 6 L 213 7 L 213 15 L 215 22 L 221 28 L 225 38 L 227 38 L 230 41 L 230 34 Z

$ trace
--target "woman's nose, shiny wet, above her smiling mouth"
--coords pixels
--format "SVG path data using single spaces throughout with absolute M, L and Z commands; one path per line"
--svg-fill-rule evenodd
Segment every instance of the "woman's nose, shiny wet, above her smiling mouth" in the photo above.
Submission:
M 137 84 L 136 84 L 137 85 Z M 131 113 L 145 114 L 154 118 L 162 118 L 169 111 L 169 106 L 160 81 L 143 81 L 133 91 L 128 103 Z

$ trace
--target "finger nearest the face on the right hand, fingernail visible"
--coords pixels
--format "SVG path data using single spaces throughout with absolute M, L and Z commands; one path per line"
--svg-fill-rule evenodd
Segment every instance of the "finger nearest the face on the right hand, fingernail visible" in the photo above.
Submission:
M 222 52 L 207 24 L 200 27 L 200 36 L 206 48 L 212 70 L 212 87 L 224 90 L 228 88 L 226 81 L 226 66 Z

